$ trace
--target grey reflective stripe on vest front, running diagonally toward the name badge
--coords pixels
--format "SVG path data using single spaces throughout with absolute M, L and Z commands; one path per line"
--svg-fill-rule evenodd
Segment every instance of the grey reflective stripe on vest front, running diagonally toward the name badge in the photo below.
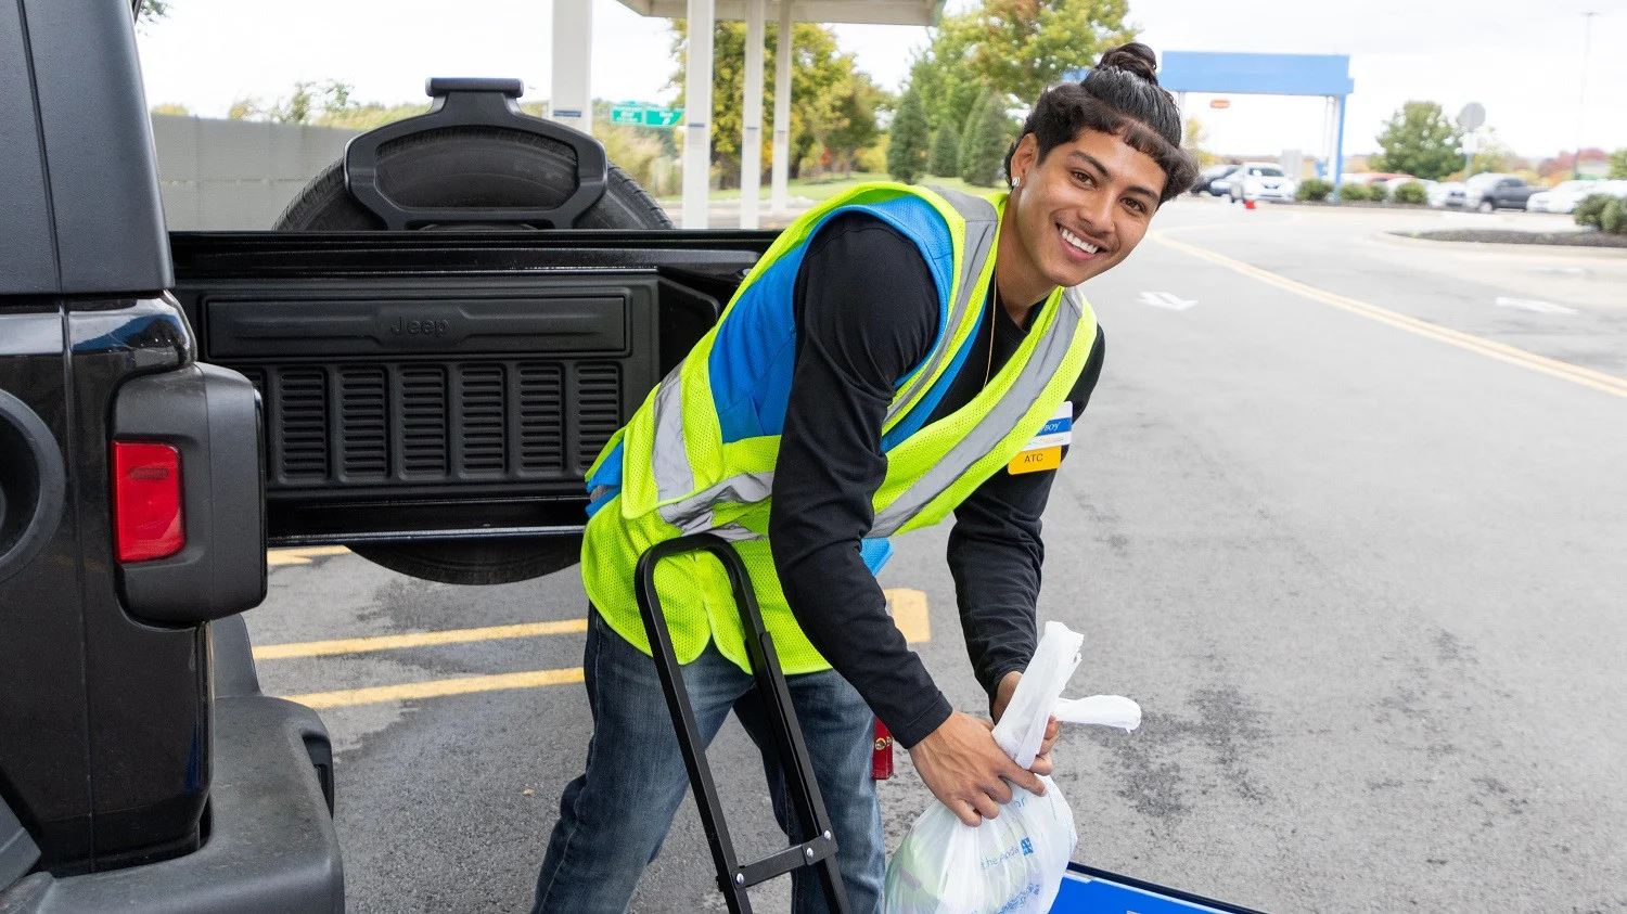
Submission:
M 1017 428 L 1017 423 L 1045 392 L 1045 385 L 1051 382 L 1051 376 L 1061 368 L 1062 359 L 1067 358 L 1067 350 L 1074 345 L 1074 335 L 1079 332 L 1079 319 L 1084 316 L 1084 298 L 1079 286 L 1062 291 L 1058 316 L 1051 320 L 1045 338 L 1035 346 L 1028 364 L 1022 368 L 1022 374 L 1012 382 L 1010 390 L 994 403 L 989 415 L 983 416 L 965 437 L 949 449 L 942 460 L 932 464 L 931 470 L 875 514 L 869 537 L 896 533 L 916 512 L 955 485 L 955 480 L 971 470 L 973 464 L 994 450 L 1001 439 Z

